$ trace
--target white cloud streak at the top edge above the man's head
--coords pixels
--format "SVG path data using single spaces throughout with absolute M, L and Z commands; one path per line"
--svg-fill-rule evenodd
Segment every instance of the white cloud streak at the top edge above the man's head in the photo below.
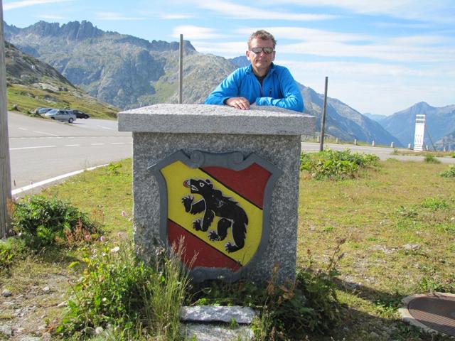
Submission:
M 200 0 L 196 4 L 203 9 L 222 13 L 227 18 L 287 20 L 287 21 L 319 21 L 332 19 L 335 16 L 327 14 L 291 13 L 261 9 L 259 6 L 245 6 L 223 0 Z

